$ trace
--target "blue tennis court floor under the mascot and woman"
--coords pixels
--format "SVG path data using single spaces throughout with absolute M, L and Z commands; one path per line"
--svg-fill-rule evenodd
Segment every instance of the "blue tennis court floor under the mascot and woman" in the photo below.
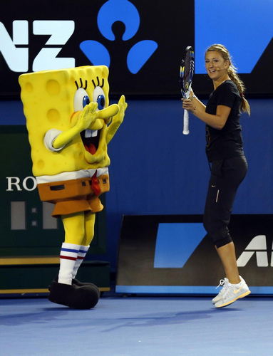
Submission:
M 91 310 L 13 298 L 0 313 L 2 356 L 273 355 L 273 298 L 216 309 L 208 297 L 106 293 Z

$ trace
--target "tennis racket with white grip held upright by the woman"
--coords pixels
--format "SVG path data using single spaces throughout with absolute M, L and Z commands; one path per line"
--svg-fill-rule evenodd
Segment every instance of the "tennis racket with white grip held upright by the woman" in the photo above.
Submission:
M 191 46 L 186 48 L 185 56 L 180 66 L 180 88 L 184 99 L 190 98 L 190 88 L 192 87 L 192 76 L 195 69 L 195 53 Z M 183 134 L 188 135 L 189 131 L 189 112 L 184 110 Z

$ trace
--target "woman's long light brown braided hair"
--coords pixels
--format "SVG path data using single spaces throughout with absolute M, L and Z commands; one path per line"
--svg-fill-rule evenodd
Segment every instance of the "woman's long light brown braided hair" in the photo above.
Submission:
M 241 95 L 242 103 L 241 103 L 240 110 L 242 112 L 247 112 L 248 115 L 250 115 L 249 103 L 247 102 L 247 99 L 244 98 L 244 90 L 245 90 L 244 83 L 239 78 L 239 75 L 237 75 L 237 73 L 236 73 L 236 68 L 232 64 L 229 51 L 227 51 L 227 48 L 225 48 L 225 46 L 223 46 L 221 44 L 214 44 L 214 45 L 210 46 L 209 48 L 207 48 L 206 53 L 208 51 L 218 52 L 218 53 L 220 53 L 220 55 L 222 56 L 224 61 L 230 62 L 230 67 L 227 69 L 227 74 L 229 75 L 232 82 L 235 83 L 235 85 L 237 86 L 237 89 L 239 90 L 239 95 Z

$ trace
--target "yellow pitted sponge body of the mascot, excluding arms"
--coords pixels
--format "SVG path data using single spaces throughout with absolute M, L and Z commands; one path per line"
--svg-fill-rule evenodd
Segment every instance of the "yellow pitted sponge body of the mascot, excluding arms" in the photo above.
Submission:
M 34 176 L 55 175 L 80 169 L 107 167 L 105 135 L 106 124 L 101 129 L 100 147 L 105 151 L 99 162 L 85 159 L 86 150 L 78 134 L 58 152 L 49 151 L 43 139 L 51 129 L 65 132 L 71 129 L 74 114 L 73 100 L 77 88 L 84 88 L 91 101 L 96 85 L 102 85 L 105 107 L 109 105 L 108 68 L 106 66 L 83 66 L 63 70 L 44 70 L 20 75 L 21 100 L 24 104 L 26 127 L 29 131 Z M 78 86 L 77 86 L 78 85 Z M 86 87 L 87 85 L 87 87 Z M 90 155 L 88 153 L 88 155 Z

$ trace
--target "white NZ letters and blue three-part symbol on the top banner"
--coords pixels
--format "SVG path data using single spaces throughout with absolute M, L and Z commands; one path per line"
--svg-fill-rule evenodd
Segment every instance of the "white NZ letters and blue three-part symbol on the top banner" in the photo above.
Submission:
M 98 11 L 97 17 L 98 29 L 106 40 L 115 41 L 112 26 L 117 21 L 125 25 L 123 41 L 130 40 L 140 27 L 138 9 L 128 0 L 106 1 Z M 74 21 L 35 20 L 32 25 L 34 35 L 51 35 L 34 58 L 32 63 L 34 72 L 75 67 L 75 58 L 58 56 L 75 31 Z M 29 27 L 29 21 L 13 21 L 13 38 L 11 38 L 4 24 L 0 22 L 0 52 L 9 68 L 14 72 L 24 73 L 29 70 Z M 102 43 L 90 39 L 79 43 L 79 47 L 94 66 L 110 67 L 110 53 Z M 148 39 L 135 43 L 127 55 L 127 66 L 130 73 L 138 73 L 157 48 L 158 43 Z

